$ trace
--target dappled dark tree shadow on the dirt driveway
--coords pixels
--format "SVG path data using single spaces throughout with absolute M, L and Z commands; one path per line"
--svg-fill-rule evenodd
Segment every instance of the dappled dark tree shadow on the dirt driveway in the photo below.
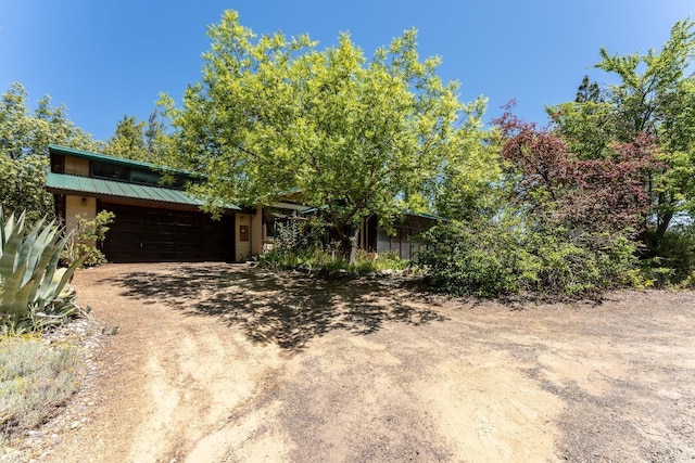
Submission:
M 299 350 L 333 330 L 369 334 L 387 322 L 444 321 L 425 298 L 391 282 L 317 280 L 245 266 L 177 266 L 130 272 L 103 283 L 139 303 L 165 303 L 189 314 L 218 317 L 254 343 Z

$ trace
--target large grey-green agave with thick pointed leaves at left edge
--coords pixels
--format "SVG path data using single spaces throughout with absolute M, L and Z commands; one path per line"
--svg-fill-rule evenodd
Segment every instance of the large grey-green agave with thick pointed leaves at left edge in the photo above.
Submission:
M 0 207 L 0 330 L 60 324 L 80 311 L 67 284 L 81 260 L 59 268 L 68 240 L 55 220 L 25 231 L 25 214 L 5 220 Z

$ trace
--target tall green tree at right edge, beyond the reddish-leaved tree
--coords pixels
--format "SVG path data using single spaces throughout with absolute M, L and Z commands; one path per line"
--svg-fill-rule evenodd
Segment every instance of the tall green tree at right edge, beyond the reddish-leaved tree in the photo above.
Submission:
M 673 217 L 695 213 L 695 23 L 681 21 L 661 50 L 618 55 L 601 49 L 596 64 L 617 78 L 599 89 L 586 79 L 576 102 L 548 110 L 573 152 L 609 158 L 617 143 L 652 138 L 660 164 L 648 173 L 657 245 Z

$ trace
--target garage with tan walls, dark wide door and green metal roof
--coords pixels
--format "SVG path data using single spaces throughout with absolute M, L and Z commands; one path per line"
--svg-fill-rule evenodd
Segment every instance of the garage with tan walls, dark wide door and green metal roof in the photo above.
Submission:
M 101 252 L 110 262 L 236 261 L 251 253 L 252 211 L 229 205 L 218 220 L 200 209 L 182 185 L 190 173 L 148 163 L 51 145 L 47 190 L 68 228 L 114 213 Z M 173 180 L 172 180 L 173 179 Z

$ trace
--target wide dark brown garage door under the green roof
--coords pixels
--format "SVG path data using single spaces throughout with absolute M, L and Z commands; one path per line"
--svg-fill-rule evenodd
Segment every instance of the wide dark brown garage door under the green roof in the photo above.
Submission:
M 232 261 L 233 217 L 186 210 L 100 205 L 116 215 L 102 252 L 110 262 Z

